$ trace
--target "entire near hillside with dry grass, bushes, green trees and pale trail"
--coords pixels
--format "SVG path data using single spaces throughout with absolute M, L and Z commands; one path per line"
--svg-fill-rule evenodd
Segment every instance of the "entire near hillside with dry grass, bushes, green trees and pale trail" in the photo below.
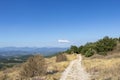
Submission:
M 82 55 L 82 61 L 78 59 L 78 55 Z M 117 38 L 104 37 L 96 42 L 87 43 L 82 47 L 71 46 L 69 50 L 48 58 L 44 58 L 41 55 L 31 55 L 29 57 L 28 59 L 26 56 L 23 57 L 27 61 L 25 60 L 22 64 L 1 70 L 0 79 L 120 79 L 120 42 Z

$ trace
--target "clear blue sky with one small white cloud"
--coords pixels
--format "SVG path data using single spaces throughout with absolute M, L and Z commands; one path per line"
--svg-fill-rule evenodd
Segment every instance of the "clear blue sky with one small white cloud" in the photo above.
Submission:
M 120 0 L 0 0 L 0 47 L 69 47 L 120 36 Z

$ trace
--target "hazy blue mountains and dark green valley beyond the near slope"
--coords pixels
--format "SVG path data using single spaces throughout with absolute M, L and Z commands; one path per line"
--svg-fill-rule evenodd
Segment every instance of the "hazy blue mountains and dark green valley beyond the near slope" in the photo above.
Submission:
M 58 52 L 67 50 L 59 47 L 4 47 L 0 48 L 0 69 L 13 67 L 16 64 L 25 62 L 29 57 L 41 54 L 45 57 L 56 55 Z

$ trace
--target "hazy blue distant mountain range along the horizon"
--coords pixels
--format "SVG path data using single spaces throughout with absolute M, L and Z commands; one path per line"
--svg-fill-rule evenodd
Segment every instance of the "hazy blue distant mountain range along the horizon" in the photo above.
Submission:
M 50 56 L 58 52 L 67 50 L 68 48 L 59 48 L 59 47 L 4 47 L 0 48 L 0 56 L 18 56 L 18 55 L 31 55 L 31 54 L 41 54 L 44 56 Z

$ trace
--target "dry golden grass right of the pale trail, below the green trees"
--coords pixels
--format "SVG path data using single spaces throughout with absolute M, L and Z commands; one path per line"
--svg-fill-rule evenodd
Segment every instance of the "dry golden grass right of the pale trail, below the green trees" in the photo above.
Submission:
M 120 80 L 120 58 L 85 58 L 83 60 L 91 80 Z

